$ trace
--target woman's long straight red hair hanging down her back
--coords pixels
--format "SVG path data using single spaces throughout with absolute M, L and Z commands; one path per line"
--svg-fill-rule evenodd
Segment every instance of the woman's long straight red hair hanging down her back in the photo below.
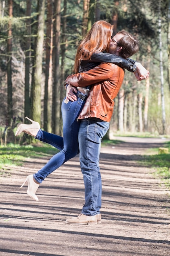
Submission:
M 77 48 L 74 65 L 75 73 L 78 73 L 82 60 L 90 59 L 94 52 L 108 51 L 112 34 L 113 26 L 105 20 L 99 20 L 93 24 Z

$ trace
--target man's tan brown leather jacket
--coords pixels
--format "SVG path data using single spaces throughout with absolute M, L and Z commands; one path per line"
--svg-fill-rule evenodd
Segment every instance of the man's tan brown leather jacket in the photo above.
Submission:
M 75 87 L 93 84 L 79 119 L 96 117 L 109 122 L 113 114 L 115 97 L 124 79 L 124 70 L 112 63 L 99 66 L 67 77 L 66 83 Z

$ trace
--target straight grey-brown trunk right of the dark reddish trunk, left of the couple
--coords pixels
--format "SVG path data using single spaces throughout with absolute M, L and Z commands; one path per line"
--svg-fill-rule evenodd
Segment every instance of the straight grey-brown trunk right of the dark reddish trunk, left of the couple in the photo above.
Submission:
M 60 23 L 61 0 L 55 0 L 53 25 L 53 103 L 52 103 L 52 132 L 60 134 Z

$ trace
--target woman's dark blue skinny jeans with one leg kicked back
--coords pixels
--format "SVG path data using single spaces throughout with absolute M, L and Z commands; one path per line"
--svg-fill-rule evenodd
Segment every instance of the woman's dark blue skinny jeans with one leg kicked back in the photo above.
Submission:
M 77 121 L 77 118 L 82 111 L 85 101 L 77 98 L 77 101 L 64 103 L 64 100 L 62 101 L 63 137 L 42 131 L 41 129 L 35 137 L 35 139 L 44 141 L 61 150 L 34 174 L 35 180 L 39 183 L 42 183 L 50 173 L 79 153 L 78 131 L 80 121 Z

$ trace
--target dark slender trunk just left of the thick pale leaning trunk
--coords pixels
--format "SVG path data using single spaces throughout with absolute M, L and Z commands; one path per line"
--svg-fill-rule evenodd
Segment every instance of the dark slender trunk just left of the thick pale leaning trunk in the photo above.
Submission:
M 24 90 L 24 116 L 30 115 L 30 54 L 31 54 L 31 0 L 26 1 L 26 38 L 25 38 L 25 90 Z

